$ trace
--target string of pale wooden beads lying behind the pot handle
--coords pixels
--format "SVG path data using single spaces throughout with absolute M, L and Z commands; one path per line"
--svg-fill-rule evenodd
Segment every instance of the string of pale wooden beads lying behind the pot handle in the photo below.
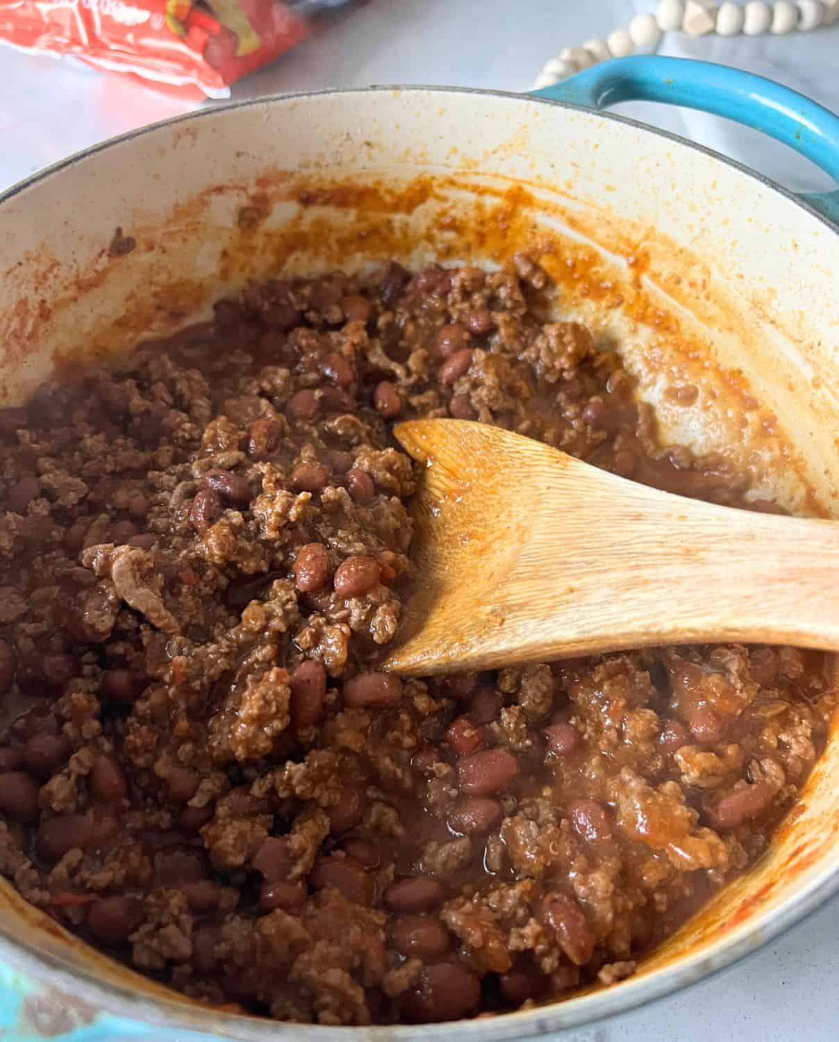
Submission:
M 545 63 L 534 90 L 551 86 L 582 69 L 622 58 L 636 51 L 655 51 L 666 32 L 681 30 L 693 36 L 760 36 L 765 32 L 811 32 L 839 21 L 839 0 L 749 0 L 741 5 L 724 0 L 659 0 L 655 14 L 636 15 L 628 29 L 615 29 L 606 40 L 587 40 L 582 47 L 566 47 Z

